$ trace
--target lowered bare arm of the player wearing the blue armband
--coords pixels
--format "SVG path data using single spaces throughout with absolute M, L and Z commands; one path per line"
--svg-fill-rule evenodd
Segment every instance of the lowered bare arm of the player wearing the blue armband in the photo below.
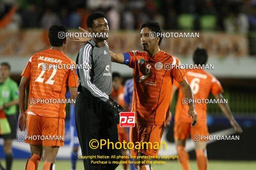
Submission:
M 184 79 L 183 81 L 179 82 L 182 90 L 183 90 L 183 94 L 185 96 L 185 98 L 188 99 L 188 101 L 193 101 L 193 92 L 191 90 L 191 87 L 187 81 L 187 79 Z M 195 106 L 193 102 L 188 102 L 188 115 L 189 117 L 192 116 L 192 122 L 191 122 L 191 126 L 193 127 L 196 122 L 197 122 L 197 114 L 195 111 Z

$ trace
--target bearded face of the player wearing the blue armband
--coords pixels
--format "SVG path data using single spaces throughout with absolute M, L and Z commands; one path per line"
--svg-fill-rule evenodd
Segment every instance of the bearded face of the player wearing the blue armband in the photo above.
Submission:
M 141 30 L 141 42 L 142 48 L 145 51 L 152 51 L 158 46 L 158 37 L 152 36 L 152 31 L 148 27 L 144 27 Z

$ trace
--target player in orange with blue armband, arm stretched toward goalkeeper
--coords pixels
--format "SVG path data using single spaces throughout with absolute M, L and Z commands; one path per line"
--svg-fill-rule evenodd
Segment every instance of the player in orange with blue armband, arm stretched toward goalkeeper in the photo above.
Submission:
M 155 32 L 155 37 L 151 33 Z M 162 33 L 159 23 L 149 21 L 141 25 L 141 43 L 144 51 L 129 51 L 123 53 L 110 52 L 114 62 L 123 63 L 133 68 L 134 95 L 132 111 L 135 112 L 135 127 L 130 129 L 132 142 L 159 142 L 164 127 L 168 121 L 173 80 L 177 80 L 187 98 L 193 99 L 193 93 L 188 84 L 184 69 L 170 69 L 165 64 L 178 65 L 176 56 L 161 50 Z M 170 65 L 169 65 L 170 66 Z M 191 126 L 197 121 L 194 104 L 188 109 Z M 132 156 L 156 156 L 158 149 L 131 149 Z M 137 159 L 135 159 L 138 161 Z M 149 160 L 140 158 L 140 161 Z M 135 164 L 137 169 L 152 169 L 149 163 Z

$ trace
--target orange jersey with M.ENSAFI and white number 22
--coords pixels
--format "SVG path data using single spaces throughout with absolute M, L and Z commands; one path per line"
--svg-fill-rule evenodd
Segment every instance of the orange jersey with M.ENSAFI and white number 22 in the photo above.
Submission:
M 62 65 L 47 69 L 47 64 Z M 66 87 L 78 86 L 78 77 L 71 65 L 75 65 L 75 62 L 55 49 L 46 49 L 30 57 L 21 74 L 30 79 L 26 113 L 65 118 L 66 103 L 63 101 L 65 101 Z

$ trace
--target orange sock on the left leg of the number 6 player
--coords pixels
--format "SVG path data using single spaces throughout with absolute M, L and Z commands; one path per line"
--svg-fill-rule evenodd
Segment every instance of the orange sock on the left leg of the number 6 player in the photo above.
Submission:
M 179 162 L 183 170 L 190 170 L 189 155 L 184 146 L 177 146 Z

